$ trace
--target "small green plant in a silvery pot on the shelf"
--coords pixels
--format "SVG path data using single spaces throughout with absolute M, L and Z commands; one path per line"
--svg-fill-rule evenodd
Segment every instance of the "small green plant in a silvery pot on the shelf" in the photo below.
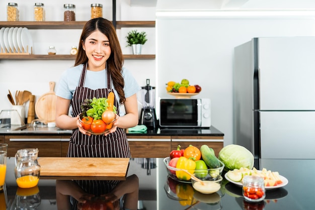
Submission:
M 142 45 L 147 41 L 146 33 L 144 31 L 138 32 L 137 30 L 132 30 L 128 32 L 127 46 L 132 47 L 132 52 L 135 55 L 141 54 Z

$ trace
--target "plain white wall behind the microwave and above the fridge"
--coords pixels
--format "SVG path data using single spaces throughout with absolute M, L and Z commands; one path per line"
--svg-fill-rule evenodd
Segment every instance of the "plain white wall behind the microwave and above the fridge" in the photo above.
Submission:
M 168 97 L 169 80 L 199 84 L 198 97 L 210 97 L 211 124 L 224 133 L 224 145 L 233 143 L 233 48 L 253 37 L 315 36 L 314 13 L 266 17 L 263 11 L 249 16 L 230 12 L 235 11 L 208 11 L 203 17 L 198 12 L 193 17 L 186 11 L 159 11 L 156 21 L 159 96 Z

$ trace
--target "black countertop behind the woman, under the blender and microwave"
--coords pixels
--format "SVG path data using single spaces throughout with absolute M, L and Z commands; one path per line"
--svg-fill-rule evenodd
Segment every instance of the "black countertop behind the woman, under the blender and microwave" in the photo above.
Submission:
M 32 127 L 19 129 L 0 129 L 0 135 L 70 135 L 72 130 L 57 127 Z M 128 132 L 127 136 L 224 136 L 215 127 L 210 128 L 148 128 L 146 132 Z

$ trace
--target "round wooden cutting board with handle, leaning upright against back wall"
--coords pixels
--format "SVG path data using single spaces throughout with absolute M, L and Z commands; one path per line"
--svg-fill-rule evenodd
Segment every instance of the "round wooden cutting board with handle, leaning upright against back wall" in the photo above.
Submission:
M 56 120 L 56 94 L 54 92 L 55 82 L 49 82 L 49 92 L 40 96 L 35 104 L 37 118 L 47 123 Z

